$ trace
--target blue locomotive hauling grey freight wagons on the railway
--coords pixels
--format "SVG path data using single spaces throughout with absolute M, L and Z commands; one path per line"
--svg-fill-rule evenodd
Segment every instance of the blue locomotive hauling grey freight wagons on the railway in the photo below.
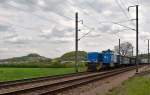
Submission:
M 110 49 L 102 52 L 89 52 L 87 54 L 88 71 L 99 71 L 104 68 L 135 65 L 136 59 L 115 54 Z

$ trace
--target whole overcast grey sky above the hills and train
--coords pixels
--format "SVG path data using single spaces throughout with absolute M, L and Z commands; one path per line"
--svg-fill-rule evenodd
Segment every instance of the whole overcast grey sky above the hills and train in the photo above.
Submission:
M 140 53 L 147 50 L 150 38 L 149 0 L 0 0 L 0 59 L 29 53 L 55 58 L 74 50 L 75 12 L 79 13 L 79 50 L 113 49 L 122 42 L 135 47 L 135 8 L 140 4 Z

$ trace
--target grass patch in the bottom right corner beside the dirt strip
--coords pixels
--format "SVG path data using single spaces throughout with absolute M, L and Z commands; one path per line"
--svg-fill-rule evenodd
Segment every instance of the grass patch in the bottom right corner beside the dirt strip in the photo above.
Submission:
M 150 95 L 150 77 L 131 78 L 108 95 Z

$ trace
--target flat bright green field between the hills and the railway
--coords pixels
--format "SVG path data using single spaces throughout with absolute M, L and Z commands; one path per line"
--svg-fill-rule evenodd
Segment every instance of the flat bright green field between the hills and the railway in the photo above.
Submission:
M 85 68 L 80 68 L 84 71 Z M 74 73 L 74 68 L 0 68 L 0 81 Z

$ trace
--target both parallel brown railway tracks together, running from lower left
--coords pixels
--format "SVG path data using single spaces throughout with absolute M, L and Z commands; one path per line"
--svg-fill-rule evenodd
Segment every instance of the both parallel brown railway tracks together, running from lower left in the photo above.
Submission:
M 135 69 L 134 66 L 104 72 L 81 73 L 50 79 L 45 78 L 45 80 L 35 79 L 34 81 L 16 82 L 14 84 L 4 83 L 0 87 L 0 95 L 54 95 L 66 89 L 111 77 L 133 69 Z

